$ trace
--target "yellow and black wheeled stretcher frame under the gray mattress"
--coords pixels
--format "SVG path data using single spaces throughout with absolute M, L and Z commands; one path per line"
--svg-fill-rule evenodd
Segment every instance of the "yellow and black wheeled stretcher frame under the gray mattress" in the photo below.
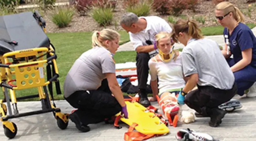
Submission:
M 33 13 L 38 24 L 45 30 L 45 20 L 38 11 Z M 52 90 L 50 95 L 46 86 L 52 86 L 55 82 L 57 94 L 60 94 L 59 72 L 56 63 L 52 44 L 49 47 L 30 48 L 4 53 L 0 56 L 0 86 L 4 93 L 4 99 L 0 99 L 0 120 L 2 121 L 4 134 L 12 139 L 17 134 L 17 125 L 9 119 L 24 117 L 28 115 L 43 114 L 52 112 L 57 125 L 60 129 L 65 129 L 69 123 L 69 115 L 61 113 L 60 108 L 56 107 L 53 99 Z M 52 66 L 52 77 L 49 77 L 47 71 L 47 80 L 45 79 L 45 70 Z M 50 72 L 51 73 L 51 72 Z M 37 88 L 38 94 L 16 97 L 15 91 L 28 88 Z M 8 92 L 9 91 L 9 92 Z M 50 97 L 51 96 L 51 97 Z M 39 97 L 42 105 L 41 110 L 19 113 L 17 100 Z M 51 99 L 52 98 L 52 99 Z M 52 100 L 52 103 L 51 103 Z M 6 102 L 6 104 L 4 103 Z M 8 112 L 8 115 L 7 115 Z

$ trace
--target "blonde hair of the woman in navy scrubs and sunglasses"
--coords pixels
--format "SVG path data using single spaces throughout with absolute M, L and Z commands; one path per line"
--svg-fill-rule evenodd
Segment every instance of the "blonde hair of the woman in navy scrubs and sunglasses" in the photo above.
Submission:
M 233 15 L 233 18 L 237 22 L 245 22 L 242 12 L 236 6 L 231 4 L 230 2 L 221 2 L 221 3 L 217 4 L 216 10 L 222 10 L 224 15 L 231 12 Z

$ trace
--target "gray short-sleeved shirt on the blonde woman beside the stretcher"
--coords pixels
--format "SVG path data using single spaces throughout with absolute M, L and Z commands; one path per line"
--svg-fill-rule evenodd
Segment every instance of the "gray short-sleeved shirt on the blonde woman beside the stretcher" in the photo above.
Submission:
M 100 87 L 104 73 L 115 73 L 115 62 L 111 53 L 103 47 L 94 47 L 84 52 L 70 68 L 64 81 L 64 97 L 78 90 L 96 90 Z

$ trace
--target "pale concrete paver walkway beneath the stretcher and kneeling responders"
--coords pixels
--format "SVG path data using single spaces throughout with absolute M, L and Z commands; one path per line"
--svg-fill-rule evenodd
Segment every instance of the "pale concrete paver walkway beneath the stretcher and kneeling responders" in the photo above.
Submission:
M 178 123 L 176 128 L 169 126 L 170 133 L 168 135 L 153 137 L 149 141 L 175 141 L 176 132 L 182 128 L 206 132 L 220 141 L 256 141 L 256 98 L 236 96 L 235 99 L 241 101 L 243 108 L 226 114 L 222 124 L 217 128 L 208 126 L 210 118 L 196 118 L 195 123 Z M 70 113 L 73 110 L 66 101 L 56 101 L 56 105 L 64 113 Z M 152 105 L 160 108 L 156 102 L 152 103 Z M 41 103 L 38 101 L 18 103 L 20 113 L 40 110 L 40 108 Z M 188 110 L 186 105 L 182 109 Z M 61 130 L 58 128 L 52 113 L 21 117 L 10 121 L 14 122 L 18 128 L 17 136 L 11 139 L 13 141 L 123 141 L 124 133 L 128 130 L 128 126 L 123 123 L 120 123 L 122 128 L 118 130 L 113 125 L 106 125 L 102 122 L 96 125 L 89 125 L 91 131 L 81 133 L 71 121 L 69 121 L 67 129 Z M 9 140 L 4 135 L 3 128 L 0 128 L 0 138 L 1 141 Z

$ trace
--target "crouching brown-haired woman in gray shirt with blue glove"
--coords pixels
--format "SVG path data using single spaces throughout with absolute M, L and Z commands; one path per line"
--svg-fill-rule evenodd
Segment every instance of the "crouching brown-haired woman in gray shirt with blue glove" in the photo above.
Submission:
M 174 32 L 174 38 L 185 46 L 182 68 L 184 76 L 189 77 L 178 103 L 186 103 L 202 116 L 210 117 L 209 125 L 217 127 L 226 114 L 218 106 L 237 91 L 234 75 L 217 42 L 204 38 L 194 20 L 178 20 Z M 198 89 L 191 91 L 196 85 Z

